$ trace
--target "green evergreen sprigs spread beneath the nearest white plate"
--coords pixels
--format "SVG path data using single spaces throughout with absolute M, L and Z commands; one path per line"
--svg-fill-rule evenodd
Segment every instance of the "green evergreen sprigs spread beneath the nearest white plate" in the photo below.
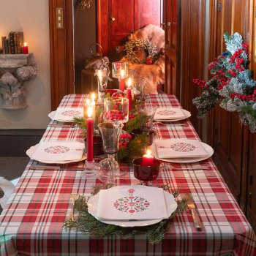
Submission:
M 104 185 L 94 185 L 92 187 L 91 196 L 96 195 L 100 189 L 110 189 L 113 184 Z M 168 191 L 170 189 L 169 184 L 159 186 L 160 188 Z M 179 195 L 179 189 L 172 192 L 173 196 L 176 198 Z M 163 219 L 157 224 L 145 226 L 145 227 L 120 227 L 116 225 L 105 224 L 100 222 L 94 216 L 89 214 L 87 202 L 89 197 L 79 196 L 78 200 L 75 200 L 74 209 L 79 212 L 78 217 L 74 220 L 66 219 L 64 222 L 64 229 L 74 228 L 76 232 L 88 233 L 93 237 L 108 237 L 108 236 L 120 236 L 121 238 L 127 239 L 131 238 L 138 232 L 146 233 L 146 236 L 151 244 L 157 244 L 165 238 L 165 232 L 170 228 L 170 219 L 176 216 L 176 214 L 186 211 L 187 200 L 183 198 L 182 200 L 176 200 L 178 207 L 169 219 Z

